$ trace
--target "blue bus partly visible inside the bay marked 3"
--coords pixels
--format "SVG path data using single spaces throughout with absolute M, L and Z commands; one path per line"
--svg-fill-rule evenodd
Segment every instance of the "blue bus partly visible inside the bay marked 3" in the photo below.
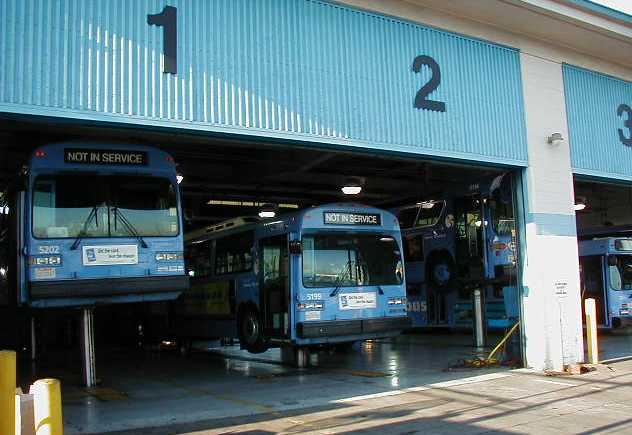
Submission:
M 597 324 L 618 328 L 632 323 L 632 238 L 579 241 L 582 307 L 595 299 Z M 582 310 L 583 313 L 583 310 Z

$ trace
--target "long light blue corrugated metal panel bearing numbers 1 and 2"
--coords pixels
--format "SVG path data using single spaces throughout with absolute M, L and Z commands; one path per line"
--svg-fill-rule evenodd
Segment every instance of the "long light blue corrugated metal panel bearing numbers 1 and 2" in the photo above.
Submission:
M 161 68 L 178 8 L 178 75 Z M 2 0 L 0 111 L 524 165 L 518 53 L 315 0 Z M 441 85 L 412 71 L 432 56 Z

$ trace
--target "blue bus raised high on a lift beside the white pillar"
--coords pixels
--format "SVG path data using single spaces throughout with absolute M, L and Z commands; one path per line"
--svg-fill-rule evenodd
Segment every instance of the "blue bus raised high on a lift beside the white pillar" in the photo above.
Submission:
M 489 327 L 511 323 L 506 299 L 515 294 L 516 231 L 509 180 L 502 174 L 393 210 L 402 228 L 413 326 L 470 326 L 468 282 L 490 284 Z

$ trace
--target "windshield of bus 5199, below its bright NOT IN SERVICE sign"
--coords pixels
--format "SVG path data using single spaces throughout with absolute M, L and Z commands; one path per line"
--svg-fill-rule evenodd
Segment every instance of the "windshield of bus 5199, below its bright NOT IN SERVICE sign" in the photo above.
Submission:
M 397 241 L 382 234 L 327 233 L 303 237 L 305 287 L 401 284 Z

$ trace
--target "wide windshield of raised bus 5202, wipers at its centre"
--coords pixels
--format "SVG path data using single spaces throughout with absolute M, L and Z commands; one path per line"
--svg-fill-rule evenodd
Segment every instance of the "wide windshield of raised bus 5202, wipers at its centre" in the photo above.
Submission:
M 167 178 L 57 174 L 33 189 L 36 238 L 178 235 L 176 189 Z

